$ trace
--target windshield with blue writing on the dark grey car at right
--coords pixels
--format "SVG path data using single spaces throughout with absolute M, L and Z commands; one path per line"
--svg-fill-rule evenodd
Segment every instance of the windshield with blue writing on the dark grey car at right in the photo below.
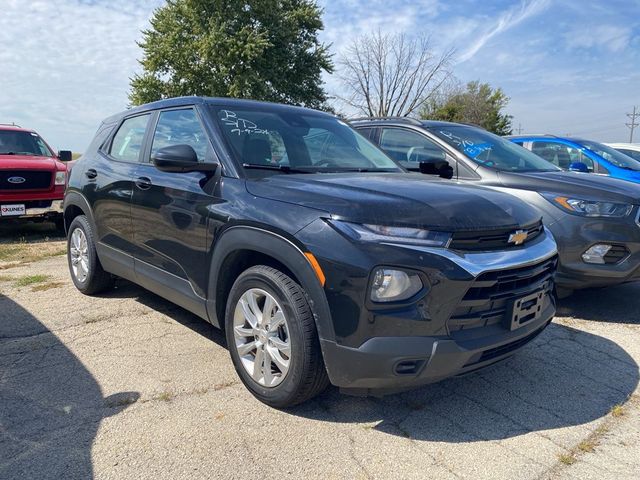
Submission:
M 555 172 L 551 162 L 502 137 L 476 127 L 451 125 L 429 130 L 484 167 L 508 172 Z

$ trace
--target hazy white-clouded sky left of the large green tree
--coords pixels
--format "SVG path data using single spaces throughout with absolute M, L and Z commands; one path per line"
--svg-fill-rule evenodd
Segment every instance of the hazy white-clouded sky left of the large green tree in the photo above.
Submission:
M 160 0 L 0 0 L 0 122 L 82 151 L 127 106 L 136 40 Z

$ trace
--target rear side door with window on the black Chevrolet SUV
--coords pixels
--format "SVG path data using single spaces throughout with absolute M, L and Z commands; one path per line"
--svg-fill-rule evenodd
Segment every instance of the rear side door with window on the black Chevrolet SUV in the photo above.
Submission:
M 133 180 L 150 119 L 149 113 L 125 118 L 95 157 L 83 164 L 86 169 L 82 193 L 93 209 L 98 242 L 110 247 L 107 254 L 115 255 L 131 268 L 135 250 L 131 223 Z

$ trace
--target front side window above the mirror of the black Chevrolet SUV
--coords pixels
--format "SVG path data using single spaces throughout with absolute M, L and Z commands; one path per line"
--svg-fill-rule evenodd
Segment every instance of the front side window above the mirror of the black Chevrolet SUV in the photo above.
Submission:
M 151 155 L 161 148 L 172 145 L 189 145 L 198 155 L 199 162 L 204 162 L 211 156 L 209 140 L 192 108 L 167 110 L 160 113 L 158 125 L 153 134 Z

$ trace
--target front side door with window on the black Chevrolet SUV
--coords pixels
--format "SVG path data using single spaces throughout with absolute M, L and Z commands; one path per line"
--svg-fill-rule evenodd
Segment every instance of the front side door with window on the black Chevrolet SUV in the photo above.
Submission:
M 218 201 L 220 172 L 169 173 L 151 157 L 160 148 L 190 145 L 200 162 L 215 154 L 195 107 L 158 112 L 144 154 L 135 172 L 131 216 L 136 243 L 136 276 L 171 283 L 190 295 L 205 296 L 208 207 Z M 157 291 L 157 286 L 148 286 Z M 190 291 L 193 289 L 193 292 Z

